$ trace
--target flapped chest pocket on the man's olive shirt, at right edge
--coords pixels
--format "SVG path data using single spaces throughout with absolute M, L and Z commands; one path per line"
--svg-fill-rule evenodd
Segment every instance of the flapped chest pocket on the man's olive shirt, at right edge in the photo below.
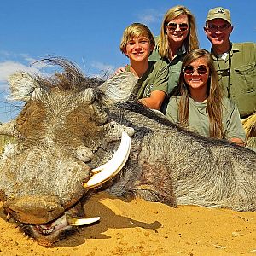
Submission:
M 253 92 L 256 90 L 256 64 L 248 64 L 235 68 L 236 83 L 242 92 Z

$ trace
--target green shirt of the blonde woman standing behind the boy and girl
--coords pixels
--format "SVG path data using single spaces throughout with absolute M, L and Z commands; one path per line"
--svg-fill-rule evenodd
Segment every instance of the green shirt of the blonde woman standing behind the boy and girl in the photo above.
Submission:
M 159 40 L 159 37 L 155 38 L 155 42 Z M 183 63 L 183 58 L 187 54 L 185 46 L 183 45 L 181 49 L 178 49 L 177 54 L 174 56 L 172 61 L 168 58 L 162 58 L 158 52 L 158 46 L 154 47 L 153 52 L 149 55 L 150 61 L 158 61 L 162 60 L 168 64 L 169 67 L 169 81 L 168 81 L 168 95 L 170 96 L 172 90 L 177 86 L 177 81 L 179 78 L 179 74 L 181 72 L 181 67 Z

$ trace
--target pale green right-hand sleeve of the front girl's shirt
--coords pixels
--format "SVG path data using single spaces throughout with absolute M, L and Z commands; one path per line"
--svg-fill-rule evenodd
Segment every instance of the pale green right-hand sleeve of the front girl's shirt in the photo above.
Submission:
M 232 104 L 230 113 L 227 119 L 227 131 L 226 137 L 230 138 L 241 138 L 244 142 L 246 140 L 246 134 L 241 124 L 240 113 L 235 104 Z

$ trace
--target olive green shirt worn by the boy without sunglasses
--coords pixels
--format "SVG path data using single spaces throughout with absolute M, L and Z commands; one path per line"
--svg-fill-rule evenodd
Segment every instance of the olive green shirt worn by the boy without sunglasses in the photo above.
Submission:
M 126 71 L 131 71 L 130 65 L 125 67 Z M 148 61 L 148 70 L 138 79 L 133 93 L 137 99 L 150 97 L 151 91 L 161 90 L 167 95 L 168 67 L 164 61 Z

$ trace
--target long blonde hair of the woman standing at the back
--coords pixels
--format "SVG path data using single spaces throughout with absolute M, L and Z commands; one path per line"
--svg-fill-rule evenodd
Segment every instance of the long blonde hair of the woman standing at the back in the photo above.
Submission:
M 162 58 L 168 58 L 169 56 L 169 43 L 168 36 L 166 34 L 166 24 L 181 15 L 187 15 L 189 19 L 189 34 L 187 38 L 185 38 L 184 40 L 186 51 L 189 52 L 190 50 L 197 49 L 199 47 L 194 15 L 186 7 L 182 5 L 177 5 L 166 12 L 166 15 L 164 16 L 164 19 L 162 21 L 160 29 L 160 38 L 157 43 L 159 55 Z

